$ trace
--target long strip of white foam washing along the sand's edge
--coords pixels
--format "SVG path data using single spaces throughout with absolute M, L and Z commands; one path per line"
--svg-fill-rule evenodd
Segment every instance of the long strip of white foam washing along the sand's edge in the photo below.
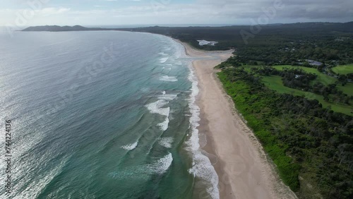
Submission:
M 192 83 L 191 95 L 189 100 L 189 107 L 191 112 L 190 124 L 191 124 L 191 136 L 186 141 L 186 150 L 189 150 L 193 157 L 193 166 L 188 170 L 190 174 L 197 176 L 203 183 L 207 183 L 208 187 L 206 191 L 210 194 L 213 199 L 220 198 L 220 191 L 218 190 L 218 176 L 213 167 L 210 159 L 202 154 L 199 138 L 198 138 L 198 121 L 200 121 L 200 108 L 196 105 L 196 96 L 198 95 L 198 82 L 194 76 L 194 71 L 189 66 L 190 75 L 189 80 Z

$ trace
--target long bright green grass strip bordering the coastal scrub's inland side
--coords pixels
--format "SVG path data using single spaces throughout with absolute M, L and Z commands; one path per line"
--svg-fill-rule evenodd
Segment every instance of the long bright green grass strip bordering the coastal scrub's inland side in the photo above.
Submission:
M 287 93 L 287 94 L 292 94 L 292 95 L 297 95 L 297 96 L 303 96 L 309 100 L 318 100 L 318 102 L 320 102 L 324 108 L 327 108 L 330 106 L 331 109 L 335 112 L 340 112 L 343 114 L 353 116 L 353 113 L 352 113 L 353 107 L 352 106 L 349 106 L 347 104 L 342 104 L 342 103 L 326 102 L 325 100 L 323 100 L 322 95 L 316 95 L 313 92 L 305 92 L 302 90 L 288 88 L 285 85 L 283 85 L 282 78 L 280 76 L 263 76 L 262 81 L 271 90 L 275 90 L 280 93 Z M 349 89 L 353 89 L 353 83 L 350 83 L 349 87 L 347 87 L 347 85 L 345 87 L 342 87 L 342 86 L 341 87 L 345 88 L 347 90 L 347 92 L 352 93 L 352 90 L 349 91 Z

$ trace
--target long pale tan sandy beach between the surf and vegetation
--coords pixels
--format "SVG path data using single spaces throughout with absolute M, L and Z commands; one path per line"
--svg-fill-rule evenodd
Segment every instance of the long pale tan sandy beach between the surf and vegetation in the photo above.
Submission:
M 274 164 L 217 78 L 214 67 L 232 56 L 233 51 L 204 52 L 176 41 L 196 60 L 193 68 L 200 89 L 197 104 L 201 108 L 198 130 L 206 135 L 203 150 L 213 157 L 220 198 L 297 198 L 279 179 Z

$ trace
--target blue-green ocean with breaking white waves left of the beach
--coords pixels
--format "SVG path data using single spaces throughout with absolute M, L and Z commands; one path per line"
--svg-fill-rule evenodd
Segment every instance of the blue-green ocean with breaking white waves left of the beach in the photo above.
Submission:
M 0 198 L 218 198 L 197 80 L 169 37 L 0 29 Z

